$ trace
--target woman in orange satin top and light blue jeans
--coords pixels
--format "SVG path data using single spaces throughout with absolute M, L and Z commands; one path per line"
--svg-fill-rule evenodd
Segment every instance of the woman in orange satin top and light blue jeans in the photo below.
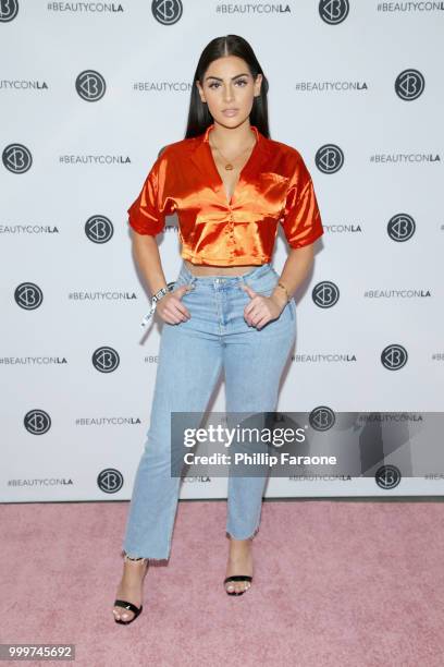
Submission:
M 323 229 L 300 154 L 269 138 L 267 90 L 245 39 L 210 41 L 195 73 L 186 136 L 158 156 L 128 209 L 135 257 L 164 326 L 113 608 L 120 623 L 141 613 L 149 559 L 170 555 L 180 485 L 170 468 L 171 413 L 203 413 L 222 369 L 227 413 L 276 409 L 296 335 L 291 295 L 310 270 Z M 183 263 L 171 291 L 156 234 L 172 213 Z M 279 222 L 289 245 L 281 276 L 270 265 Z M 266 480 L 229 476 L 229 595 L 251 585 Z

